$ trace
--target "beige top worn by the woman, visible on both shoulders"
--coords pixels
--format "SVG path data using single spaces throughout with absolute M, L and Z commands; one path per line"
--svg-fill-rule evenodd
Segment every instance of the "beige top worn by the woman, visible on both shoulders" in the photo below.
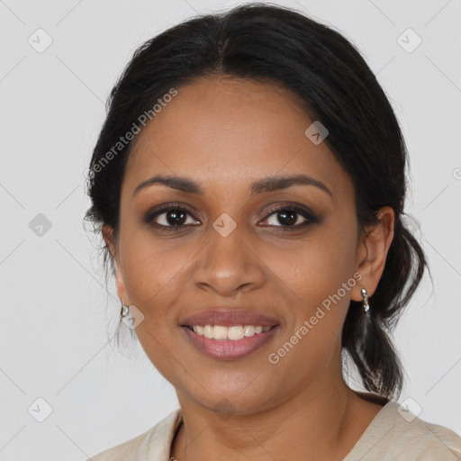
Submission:
M 386 403 L 344 461 L 461 461 L 461 438 L 455 432 L 401 410 L 402 416 L 399 407 Z M 181 421 L 177 409 L 147 432 L 86 461 L 169 461 Z

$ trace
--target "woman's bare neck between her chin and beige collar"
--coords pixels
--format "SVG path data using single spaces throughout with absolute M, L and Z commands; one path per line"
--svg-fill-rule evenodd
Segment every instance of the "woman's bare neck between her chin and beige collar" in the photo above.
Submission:
M 340 371 L 340 370 L 339 370 Z M 270 409 L 219 418 L 176 391 L 183 411 L 171 456 L 177 460 L 339 460 L 347 456 L 382 406 L 351 391 L 342 375 L 320 376 Z

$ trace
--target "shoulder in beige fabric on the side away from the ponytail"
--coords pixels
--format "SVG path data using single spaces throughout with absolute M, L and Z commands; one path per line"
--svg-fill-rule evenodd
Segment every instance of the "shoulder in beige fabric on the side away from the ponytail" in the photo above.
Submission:
M 95 456 L 91 456 L 86 461 L 168 459 L 171 441 L 181 418 L 181 409 L 177 409 L 138 437 L 106 449 Z

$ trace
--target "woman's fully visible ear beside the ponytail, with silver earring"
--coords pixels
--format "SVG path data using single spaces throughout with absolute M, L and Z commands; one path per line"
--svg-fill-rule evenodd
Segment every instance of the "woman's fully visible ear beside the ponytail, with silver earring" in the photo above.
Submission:
M 351 290 L 353 301 L 362 301 L 362 288 L 368 297 L 375 293 L 376 286 L 384 272 L 387 251 L 393 241 L 394 212 L 390 206 L 384 206 L 377 213 L 379 222 L 368 226 L 357 247 L 356 271 L 362 275 Z

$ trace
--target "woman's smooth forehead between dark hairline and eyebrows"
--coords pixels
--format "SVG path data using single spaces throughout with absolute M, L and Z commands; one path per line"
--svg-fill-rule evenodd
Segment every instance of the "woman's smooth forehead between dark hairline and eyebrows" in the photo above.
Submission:
M 328 183 L 335 195 L 348 186 L 328 146 L 305 136 L 313 121 L 291 91 L 249 79 L 201 77 L 177 92 L 134 140 L 125 174 L 131 190 L 159 173 L 219 187 L 306 173 Z

